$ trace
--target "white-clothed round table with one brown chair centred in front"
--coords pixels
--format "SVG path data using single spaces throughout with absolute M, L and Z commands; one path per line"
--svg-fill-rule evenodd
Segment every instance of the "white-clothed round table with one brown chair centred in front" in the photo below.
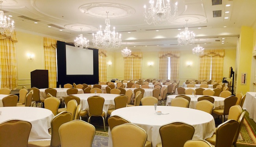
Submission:
M 95 96 L 94 93 L 83 93 L 83 94 L 72 94 L 73 96 L 77 96 L 80 98 L 80 103 L 82 104 L 81 110 L 89 110 L 89 105 L 87 99 L 91 96 Z M 103 105 L 103 111 L 105 112 L 105 118 L 108 114 L 108 109 L 115 109 L 115 101 L 114 99 L 120 94 L 108 94 L 108 93 L 97 93 L 97 96 L 101 96 L 105 99 Z

